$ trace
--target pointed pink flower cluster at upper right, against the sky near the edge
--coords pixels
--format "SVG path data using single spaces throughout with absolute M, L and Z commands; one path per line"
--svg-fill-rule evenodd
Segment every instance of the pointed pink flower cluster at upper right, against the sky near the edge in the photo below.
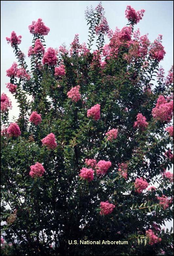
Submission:
M 158 62 L 160 62 L 162 59 L 164 59 L 165 56 L 165 50 L 164 46 L 161 43 L 162 35 L 159 35 L 157 39 L 151 44 L 149 54 L 153 59 L 156 59 Z

